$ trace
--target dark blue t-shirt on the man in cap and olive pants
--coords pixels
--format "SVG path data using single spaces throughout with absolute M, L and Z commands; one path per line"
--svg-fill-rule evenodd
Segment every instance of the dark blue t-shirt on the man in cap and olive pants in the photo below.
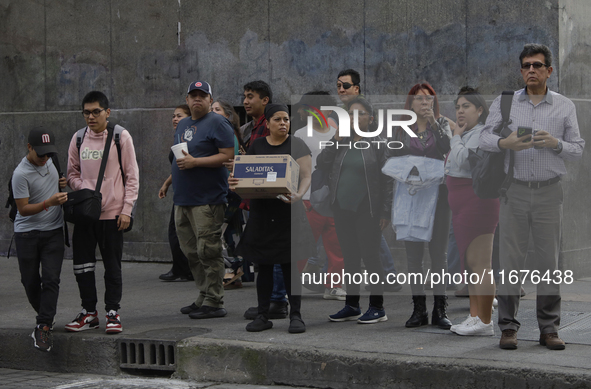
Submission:
M 189 154 L 195 158 L 209 157 L 219 149 L 234 148 L 232 125 L 222 115 L 209 112 L 198 120 L 190 116 L 179 122 L 174 134 L 174 144 L 187 142 Z M 172 161 L 172 188 L 174 204 L 196 206 L 223 204 L 228 194 L 228 170 L 195 167 L 180 170 L 176 158 Z

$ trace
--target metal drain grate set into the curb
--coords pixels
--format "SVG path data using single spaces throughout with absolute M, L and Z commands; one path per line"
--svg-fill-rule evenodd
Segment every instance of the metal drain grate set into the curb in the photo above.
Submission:
M 122 369 L 176 370 L 176 342 L 120 339 L 119 367 Z

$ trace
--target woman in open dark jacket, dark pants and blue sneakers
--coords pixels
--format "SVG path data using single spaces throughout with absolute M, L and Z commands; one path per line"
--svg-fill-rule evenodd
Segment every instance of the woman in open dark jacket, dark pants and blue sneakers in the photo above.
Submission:
M 373 130 L 373 108 L 367 100 L 358 97 L 349 105 L 352 133 L 355 111 L 359 118 L 359 130 Z M 389 153 L 385 143 L 379 141 L 383 139 L 365 138 L 356 133 L 347 139 L 335 135 L 333 145 L 325 148 L 316 160 L 318 169 L 330 172 L 330 199 L 345 273 L 351 276 L 360 274 L 363 258 L 367 271 L 378 277 L 377 280 L 370 280 L 369 309 L 363 316 L 359 306 L 359 281 L 345 279 L 345 307 L 330 315 L 330 321 L 357 320 L 358 323 L 369 324 L 388 320 L 383 307 L 384 270 L 379 250 L 382 230 L 390 220 L 393 180 L 382 174 Z M 337 143 L 339 147 L 336 147 Z

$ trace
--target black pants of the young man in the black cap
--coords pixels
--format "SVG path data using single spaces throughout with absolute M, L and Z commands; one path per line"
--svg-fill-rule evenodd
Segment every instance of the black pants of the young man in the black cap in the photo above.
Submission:
M 63 229 L 17 232 L 14 241 L 21 282 L 29 303 L 37 312 L 37 324 L 51 327 L 57 309 L 64 260 Z

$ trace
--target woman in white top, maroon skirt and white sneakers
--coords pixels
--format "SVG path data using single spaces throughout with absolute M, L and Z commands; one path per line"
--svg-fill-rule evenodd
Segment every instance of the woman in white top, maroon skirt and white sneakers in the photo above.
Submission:
M 492 277 L 493 238 L 499 223 L 499 199 L 481 199 L 472 189 L 468 155 L 476 151 L 480 131 L 484 127 L 488 107 L 478 92 L 464 87 L 456 100 L 456 120 L 453 126 L 451 151 L 445 164 L 449 205 L 462 270 L 468 271 L 470 315 L 450 330 L 458 335 L 494 335 L 491 321 L 495 295 Z M 484 279 L 479 283 L 470 275 L 477 273 Z M 479 280 L 480 281 L 480 280 Z

